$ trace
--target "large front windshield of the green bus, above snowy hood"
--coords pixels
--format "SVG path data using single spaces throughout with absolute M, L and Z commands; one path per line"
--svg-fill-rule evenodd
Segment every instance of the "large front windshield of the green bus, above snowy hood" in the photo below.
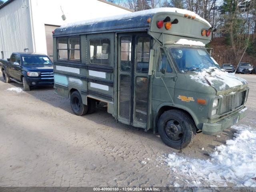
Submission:
M 200 71 L 210 67 L 220 68 L 206 49 L 174 47 L 169 48 L 169 52 L 181 72 Z

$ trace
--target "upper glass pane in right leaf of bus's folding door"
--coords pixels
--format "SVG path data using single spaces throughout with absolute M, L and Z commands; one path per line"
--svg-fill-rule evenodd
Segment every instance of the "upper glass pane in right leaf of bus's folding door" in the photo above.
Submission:
M 150 38 L 139 37 L 137 41 L 137 72 L 148 73 Z

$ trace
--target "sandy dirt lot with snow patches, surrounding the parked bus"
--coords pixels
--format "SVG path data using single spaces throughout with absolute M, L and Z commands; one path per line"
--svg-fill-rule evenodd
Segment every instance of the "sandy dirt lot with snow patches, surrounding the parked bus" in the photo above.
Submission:
M 75 116 L 52 88 L 24 92 L 0 74 L 0 186 L 255 186 L 256 75 L 239 76 L 248 116 L 174 150 L 103 106 Z

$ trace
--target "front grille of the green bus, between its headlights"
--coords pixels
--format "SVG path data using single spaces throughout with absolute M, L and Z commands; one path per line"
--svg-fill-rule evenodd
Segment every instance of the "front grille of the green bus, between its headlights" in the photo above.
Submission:
M 245 97 L 246 91 L 224 96 L 222 98 L 222 104 L 220 106 L 220 114 L 230 112 L 243 105 Z

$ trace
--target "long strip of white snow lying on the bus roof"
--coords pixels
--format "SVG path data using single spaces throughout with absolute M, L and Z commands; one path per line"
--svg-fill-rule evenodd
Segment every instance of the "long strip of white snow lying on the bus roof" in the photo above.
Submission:
M 120 14 L 120 15 L 114 15 L 110 17 L 102 17 L 102 18 L 95 18 L 95 19 L 90 19 L 90 20 L 84 20 L 84 21 L 79 21 L 79 22 L 73 22 L 69 24 L 64 24 L 60 27 L 60 29 L 68 28 L 68 27 L 78 27 L 82 25 L 87 25 L 90 23 L 96 23 L 96 22 L 104 22 L 104 21 L 111 21 L 111 20 L 121 20 L 125 18 L 131 18 L 131 17 L 136 17 L 136 16 L 145 16 L 145 15 L 150 15 L 150 14 L 156 14 L 158 12 L 176 12 L 179 14 L 189 14 L 192 16 L 196 16 L 198 20 L 201 20 L 202 22 L 206 23 L 211 26 L 208 21 L 206 21 L 204 18 L 200 17 L 198 14 L 185 10 L 185 9 L 179 9 L 179 8 L 171 8 L 171 7 L 166 7 L 166 8 L 154 8 L 154 9 L 148 9 L 148 10 L 143 10 L 143 11 L 137 11 L 137 12 L 132 12 L 128 14 Z

